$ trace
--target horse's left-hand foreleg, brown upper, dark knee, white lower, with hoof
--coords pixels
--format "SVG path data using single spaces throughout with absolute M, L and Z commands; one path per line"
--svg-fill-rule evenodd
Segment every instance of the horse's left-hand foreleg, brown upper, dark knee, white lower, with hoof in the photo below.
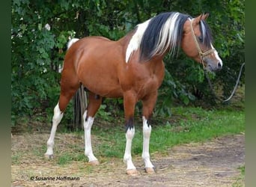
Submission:
M 126 139 L 127 144 L 124 153 L 124 162 L 127 162 L 127 174 L 136 175 L 138 171 L 132 163 L 132 138 L 135 134 L 135 128 L 133 123 L 133 115 L 135 109 L 135 96 L 132 93 L 124 95 L 124 113 L 126 118 Z

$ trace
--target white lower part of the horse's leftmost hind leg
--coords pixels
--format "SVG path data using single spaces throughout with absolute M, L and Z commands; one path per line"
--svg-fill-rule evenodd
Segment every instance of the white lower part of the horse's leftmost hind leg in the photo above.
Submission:
M 55 132 L 58 126 L 58 123 L 61 122 L 61 119 L 63 117 L 63 113 L 61 112 L 58 104 L 54 108 L 54 115 L 52 117 L 52 130 L 50 137 L 47 141 L 47 151 L 44 154 L 45 156 L 51 158 L 53 155 L 53 146 L 54 146 L 54 138 L 55 138 Z

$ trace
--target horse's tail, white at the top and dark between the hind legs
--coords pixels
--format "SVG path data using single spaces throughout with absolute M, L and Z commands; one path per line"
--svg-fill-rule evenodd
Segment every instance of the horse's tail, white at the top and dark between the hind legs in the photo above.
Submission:
M 67 43 L 67 49 L 70 49 L 70 46 L 73 45 L 73 43 L 76 43 L 79 39 L 73 38 L 69 40 Z M 85 112 L 85 109 L 87 107 L 87 96 L 84 90 L 84 86 L 81 85 L 78 91 L 76 91 L 75 95 L 73 96 L 73 119 L 74 129 L 82 129 L 83 126 L 83 114 Z M 81 125 L 82 124 L 82 125 Z

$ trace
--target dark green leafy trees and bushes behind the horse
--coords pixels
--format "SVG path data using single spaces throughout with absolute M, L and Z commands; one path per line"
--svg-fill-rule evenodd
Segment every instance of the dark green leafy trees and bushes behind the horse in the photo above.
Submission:
M 223 60 L 223 70 L 210 79 L 214 88 L 227 97 L 244 62 L 245 1 L 28 1 L 11 4 L 11 98 L 12 124 L 20 117 L 34 114 L 52 116 L 58 101 L 59 67 L 67 41 L 72 37 L 100 35 L 118 40 L 152 16 L 164 11 L 180 11 L 191 16 L 210 12 L 207 22 L 213 31 L 214 46 Z M 188 105 L 198 99 L 212 98 L 200 64 L 183 52 L 165 58 L 165 80 L 159 90 L 156 114 L 170 115 L 173 102 Z M 241 84 L 244 83 L 244 74 Z M 200 94 L 198 94 L 200 93 Z M 117 108 L 106 108 L 109 111 Z M 112 102 L 109 102 L 112 104 Z M 103 106 L 104 107 L 104 106 Z M 51 108 L 51 109 L 49 109 Z M 72 116 L 68 110 L 64 118 Z M 49 120 L 49 117 L 46 117 Z M 70 120 L 70 119 L 69 119 Z M 111 120 L 111 119 L 110 119 Z

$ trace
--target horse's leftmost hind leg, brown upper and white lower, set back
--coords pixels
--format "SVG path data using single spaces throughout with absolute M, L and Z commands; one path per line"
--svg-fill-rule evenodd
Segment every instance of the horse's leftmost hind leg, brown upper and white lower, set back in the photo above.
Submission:
M 62 81 L 63 79 L 61 79 Z M 64 82 L 64 81 L 63 81 Z M 44 156 L 47 159 L 53 158 L 53 146 L 54 146 L 54 139 L 55 139 L 55 132 L 57 130 L 58 123 L 61 122 L 61 119 L 64 114 L 64 110 L 67 107 L 67 104 L 70 102 L 70 99 L 76 93 L 77 89 L 79 88 L 79 82 L 73 82 L 72 86 L 68 84 L 69 82 L 65 82 L 61 84 L 61 94 L 58 100 L 58 104 L 54 108 L 54 114 L 52 117 L 52 130 L 47 141 L 47 150 Z

